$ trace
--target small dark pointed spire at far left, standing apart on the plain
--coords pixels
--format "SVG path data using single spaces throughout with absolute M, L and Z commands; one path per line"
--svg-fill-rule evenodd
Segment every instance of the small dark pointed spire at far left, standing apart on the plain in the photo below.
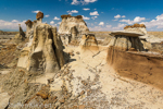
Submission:
M 20 24 L 18 24 L 18 26 L 20 26 L 20 33 L 16 34 L 14 36 L 14 38 L 12 39 L 12 41 L 14 41 L 14 43 L 21 43 L 21 41 L 23 41 L 25 39 L 25 34 L 24 34 L 24 32 L 23 32 L 23 29 L 22 29 Z

